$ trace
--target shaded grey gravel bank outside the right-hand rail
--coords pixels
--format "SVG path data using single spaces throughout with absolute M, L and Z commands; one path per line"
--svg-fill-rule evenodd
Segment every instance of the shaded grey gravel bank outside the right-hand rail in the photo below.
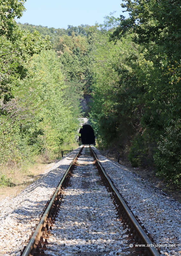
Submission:
M 161 247 L 162 255 L 181 255 L 181 204 L 156 189 L 148 180 L 128 171 L 125 166 L 102 156 L 95 147 L 93 150 L 155 242 L 176 245 Z

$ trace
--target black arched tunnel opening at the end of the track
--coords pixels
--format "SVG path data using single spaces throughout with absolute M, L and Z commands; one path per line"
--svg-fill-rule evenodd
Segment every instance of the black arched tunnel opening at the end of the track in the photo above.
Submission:
M 79 136 L 79 140 L 82 141 L 82 144 L 94 144 L 95 136 L 94 130 L 92 129 L 91 125 L 83 125 L 79 133 L 81 133 L 81 136 Z

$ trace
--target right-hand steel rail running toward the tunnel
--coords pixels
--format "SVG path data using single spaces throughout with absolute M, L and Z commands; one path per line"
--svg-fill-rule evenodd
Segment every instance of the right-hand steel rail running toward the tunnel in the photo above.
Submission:
M 105 170 L 103 169 L 102 165 L 100 164 L 98 157 L 96 156 L 96 154 L 94 153 L 94 150 L 92 149 L 92 147 L 90 146 L 92 153 L 99 165 L 99 168 L 101 169 L 101 171 L 103 172 L 106 180 L 108 181 L 109 185 L 112 188 L 112 191 L 115 193 L 115 195 L 117 196 L 117 198 L 119 199 L 119 202 L 121 203 L 124 211 L 127 213 L 129 219 L 131 220 L 135 230 L 138 232 L 138 234 L 140 235 L 141 239 L 143 240 L 143 242 L 145 243 L 145 250 L 148 249 L 149 252 L 151 253 L 152 256 L 160 256 L 160 253 L 156 250 L 156 248 L 154 247 L 154 244 L 151 242 L 151 240 L 149 239 L 149 237 L 147 236 L 147 234 L 144 232 L 144 230 L 141 228 L 140 224 L 138 223 L 138 221 L 135 219 L 134 215 L 131 213 L 131 211 L 129 210 L 127 204 L 125 203 L 125 201 L 123 200 L 123 198 L 120 196 L 119 192 L 117 191 L 117 189 L 114 187 L 114 185 L 112 184 L 111 180 L 109 179 L 109 177 L 107 176 Z M 147 247 L 148 246 L 148 247 Z M 138 247 L 139 248 L 139 247 Z

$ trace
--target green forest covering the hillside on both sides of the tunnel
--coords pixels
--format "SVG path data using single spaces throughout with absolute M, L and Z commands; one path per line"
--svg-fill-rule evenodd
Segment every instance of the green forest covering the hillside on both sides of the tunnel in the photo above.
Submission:
M 2 166 L 71 144 L 90 94 L 98 145 L 181 186 L 181 1 L 124 2 L 128 19 L 67 29 L 17 24 L 24 1 L 2 2 Z

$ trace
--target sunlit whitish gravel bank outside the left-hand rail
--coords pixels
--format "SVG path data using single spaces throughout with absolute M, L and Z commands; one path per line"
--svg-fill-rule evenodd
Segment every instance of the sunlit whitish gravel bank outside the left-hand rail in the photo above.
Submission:
M 14 198 L 0 202 L 0 255 L 20 255 L 40 213 L 78 153 L 77 148 Z

